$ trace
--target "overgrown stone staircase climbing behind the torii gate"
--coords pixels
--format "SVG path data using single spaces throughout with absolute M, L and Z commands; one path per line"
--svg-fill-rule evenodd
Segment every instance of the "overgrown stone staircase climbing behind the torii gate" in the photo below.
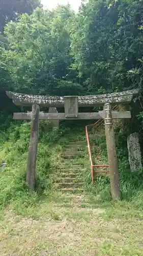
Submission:
M 62 173 L 58 178 L 59 187 L 63 191 L 74 191 L 80 193 L 83 191 L 83 182 L 81 172 L 83 165 L 79 163 L 79 159 L 83 157 L 83 147 L 85 141 L 70 141 L 65 146 L 63 153 Z

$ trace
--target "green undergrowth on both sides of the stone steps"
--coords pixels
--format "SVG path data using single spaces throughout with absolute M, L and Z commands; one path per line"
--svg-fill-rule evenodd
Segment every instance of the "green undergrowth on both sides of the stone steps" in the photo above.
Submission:
M 57 191 L 53 177 L 55 177 L 56 172 L 62 170 L 64 145 L 72 139 L 85 140 L 85 123 L 82 125 L 75 124 L 74 129 L 73 124 L 71 122 L 70 124 L 71 127 L 63 123 L 58 132 L 52 132 L 50 121 L 40 122 L 36 186 L 35 192 L 31 194 L 25 183 L 30 122 L 12 121 L 10 119 L 10 125 L 5 130 L 6 132 L 2 129 L 0 135 L 0 161 L 5 159 L 7 162 L 7 167 L 5 169 L 1 168 L 1 208 L 11 204 L 13 207 L 17 207 L 17 204 L 27 207 L 35 204 L 35 202 L 39 203 L 41 199 L 48 200 L 53 194 L 56 195 Z M 93 141 L 95 144 L 93 152 L 95 162 L 107 163 L 104 130 L 97 131 Z M 142 207 L 142 170 L 135 173 L 130 172 L 126 144 L 124 148 L 122 143 L 117 144 L 122 198 L 125 202 L 132 202 L 135 207 Z M 110 202 L 109 175 L 97 175 L 94 185 L 91 184 L 87 146 L 84 148 L 84 158 L 78 161 L 83 164 L 82 179 L 86 193 L 93 195 L 99 204 Z

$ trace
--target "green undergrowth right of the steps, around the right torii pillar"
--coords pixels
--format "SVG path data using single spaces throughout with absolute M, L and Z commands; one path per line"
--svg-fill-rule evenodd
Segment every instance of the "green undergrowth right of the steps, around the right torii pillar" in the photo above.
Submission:
M 128 161 L 127 146 L 125 144 L 124 137 L 123 141 L 124 146 L 122 143 L 118 144 L 117 146 L 122 199 L 126 202 L 132 202 L 135 207 L 142 207 L 143 169 L 139 170 L 138 172 L 131 173 Z M 106 143 L 104 144 L 104 142 L 105 135 L 102 133 L 102 131 L 100 131 L 99 134 L 96 133 L 94 140 L 91 141 L 91 144 L 95 143 L 94 145 L 96 145 L 96 152 L 92 152 L 93 156 L 96 154 L 96 161 L 100 160 L 100 162 L 95 162 L 95 164 L 107 164 Z M 109 202 L 111 200 L 109 175 L 95 175 L 95 182 L 94 185 L 92 185 L 89 166 L 85 164 L 87 161 L 88 158 L 85 159 L 82 173 L 83 179 L 85 181 L 85 189 L 87 189 L 88 193 L 95 195 L 97 202 Z

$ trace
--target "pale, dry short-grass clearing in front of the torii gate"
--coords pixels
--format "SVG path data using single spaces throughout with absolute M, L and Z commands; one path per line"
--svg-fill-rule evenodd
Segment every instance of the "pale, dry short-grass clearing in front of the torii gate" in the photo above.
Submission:
M 44 202 L 27 209 L 33 218 L 7 210 L 1 221 L 1 255 L 143 255 L 141 220 L 111 217 L 110 211 L 93 205 L 78 207 L 90 204 L 84 195 L 66 197 L 63 206 Z

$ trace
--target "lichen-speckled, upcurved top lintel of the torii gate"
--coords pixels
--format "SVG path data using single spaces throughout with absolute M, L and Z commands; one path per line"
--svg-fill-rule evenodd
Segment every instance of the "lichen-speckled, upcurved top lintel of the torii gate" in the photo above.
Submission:
M 118 93 L 78 96 L 78 106 L 95 106 L 103 105 L 104 103 L 126 103 L 130 102 L 133 98 L 133 95 L 138 94 L 138 92 L 139 90 L 135 89 Z M 65 97 L 60 96 L 28 95 L 8 91 L 6 93 L 7 96 L 11 98 L 13 103 L 16 105 L 28 106 L 36 103 L 40 106 L 62 107 L 65 104 Z

